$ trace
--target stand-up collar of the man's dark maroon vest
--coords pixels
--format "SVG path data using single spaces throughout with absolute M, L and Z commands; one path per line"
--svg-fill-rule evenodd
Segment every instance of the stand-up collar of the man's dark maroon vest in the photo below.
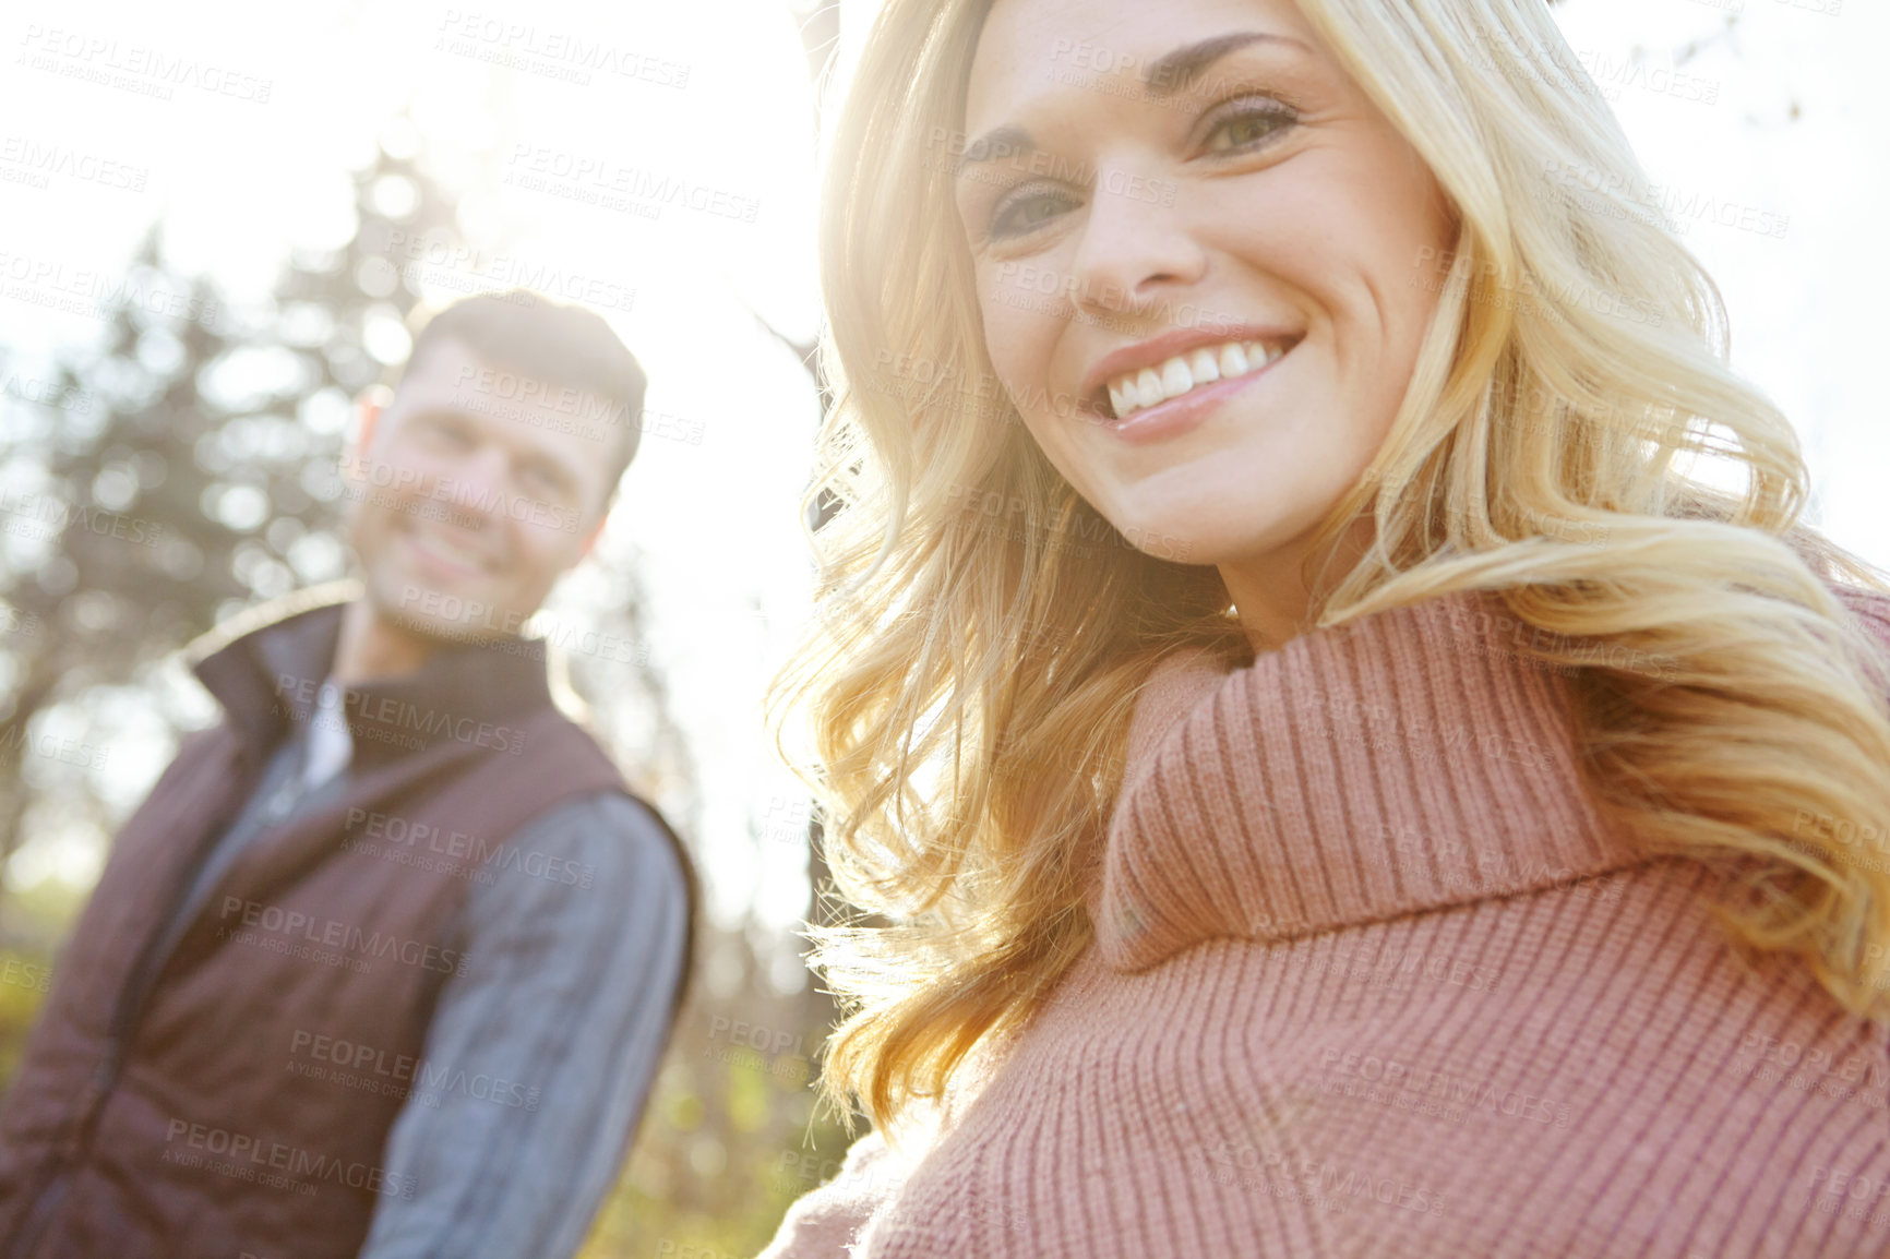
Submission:
M 302 590 L 242 612 L 191 645 L 197 677 L 255 756 L 306 722 L 335 664 L 342 611 L 359 582 Z M 342 692 L 353 764 L 370 767 L 442 743 L 518 750 L 525 720 L 554 707 L 544 645 L 507 637 L 440 645 L 412 675 Z

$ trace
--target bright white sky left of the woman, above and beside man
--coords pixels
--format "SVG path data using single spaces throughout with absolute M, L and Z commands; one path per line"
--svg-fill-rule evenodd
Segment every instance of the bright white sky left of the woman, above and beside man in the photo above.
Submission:
M 654 664 L 697 756 L 694 830 L 713 907 L 724 921 L 748 904 L 792 921 L 805 902 L 799 847 L 750 839 L 750 819 L 760 828 L 771 802 L 798 794 L 767 754 L 754 698 L 805 607 L 796 522 L 816 420 L 805 372 L 748 310 L 798 338 L 816 321 L 813 104 L 786 8 L 344 2 L 287 17 L 249 4 L 60 0 L 11 9 L 0 38 L 0 142 L 70 149 L 94 159 L 87 172 L 115 163 L 91 181 L 0 181 L 0 253 L 11 255 L 0 268 L 121 276 L 146 225 L 163 219 L 181 268 L 214 274 L 238 299 L 263 297 L 287 244 L 346 240 L 346 172 L 410 110 L 433 168 L 469 189 L 463 219 L 480 250 L 471 267 L 429 268 L 437 297 L 497 257 L 580 274 L 599 293 L 635 289 L 627 312 L 601 314 L 648 369 L 648 406 L 679 418 L 663 431 L 686 437 L 644 439 L 610 543 L 622 556 L 635 541 L 644 565 Z M 603 43 L 631 74 L 554 78 L 575 40 Z M 525 68 L 490 60 L 508 55 Z M 149 70 L 159 57 L 195 64 L 166 78 Z M 172 95 L 74 74 L 87 70 Z M 575 168 L 586 174 L 550 189 L 516 181 Z M 686 181 L 705 210 L 671 202 L 650 219 L 558 195 L 663 178 Z M 0 346 L 25 361 L 96 329 L 0 299 Z M 98 853 L 30 845 L 13 875 L 83 881 Z

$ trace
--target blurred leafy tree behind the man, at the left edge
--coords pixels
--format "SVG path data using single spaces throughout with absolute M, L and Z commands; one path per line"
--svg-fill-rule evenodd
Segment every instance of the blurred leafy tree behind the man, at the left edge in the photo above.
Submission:
M 9 531 L 25 544 L 0 597 L 42 631 L 0 645 L 13 679 L 0 696 L 0 862 L 49 790 L 21 758 L 45 743 L 32 728 L 51 707 L 144 682 L 219 616 L 342 575 L 333 469 L 348 403 L 404 355 L 416 301 L 374 240 L 452 221 L 440 191 L 386 149 L 353 183 L 359 231 L 297 251 L 261 308 L 174 274 L 153 227 L 108 295 L 98 346 L 59 367 L 55 397 L 83 412 L 68 405 L 47 423 L 38 406 L 38 422 L 13 425 L 4 465 L 25 490 Z M 96 800 L 87 783 L 64 788 Z M 100 830 L 115 820 L 91 813 Z

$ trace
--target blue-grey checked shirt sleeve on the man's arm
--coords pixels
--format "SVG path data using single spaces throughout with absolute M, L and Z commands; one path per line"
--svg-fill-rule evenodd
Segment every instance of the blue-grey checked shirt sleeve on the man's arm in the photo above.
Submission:
M 535 819 L 463 917 L 361 1259 L 569 1259 L 616 1180 L 682 979 L 682 868 L 616 792 Z

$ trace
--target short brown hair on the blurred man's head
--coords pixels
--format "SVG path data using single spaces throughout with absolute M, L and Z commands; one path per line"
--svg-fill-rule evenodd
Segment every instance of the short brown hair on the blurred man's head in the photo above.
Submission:
M 416 308 L 416 314 L 421 314 Z M 609 414 L 605 427 L 620 427 L 616 459 L 605 505 L 616 497 L 624 469 L 637 456 L 637 437 L 643 429 L 643 391 L 648 378 L 610 325 L 582 306 L 554 302 L 531 289 L 476 293 L 461 297 L 425 318 L 414 329 L 414 350 L 406 355 L 412 369 L 427 346 L 457 340 L 482 363 L 535 376 L 546 384 L 590 389 L 601 397 Z M 391 374 L 391 372 L 389 372 Z M 391 380 L 399 388 L 397 380 Z

